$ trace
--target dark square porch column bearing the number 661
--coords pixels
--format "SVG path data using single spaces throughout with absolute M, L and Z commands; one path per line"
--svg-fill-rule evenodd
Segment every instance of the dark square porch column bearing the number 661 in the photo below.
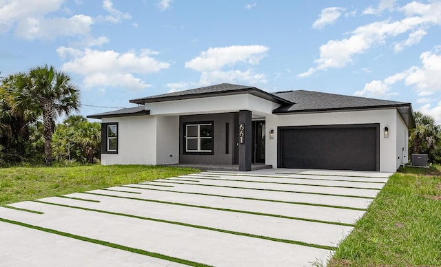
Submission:
M 239 111 L 239 171 L 251 171 L 252 157 L 251 111 Z

